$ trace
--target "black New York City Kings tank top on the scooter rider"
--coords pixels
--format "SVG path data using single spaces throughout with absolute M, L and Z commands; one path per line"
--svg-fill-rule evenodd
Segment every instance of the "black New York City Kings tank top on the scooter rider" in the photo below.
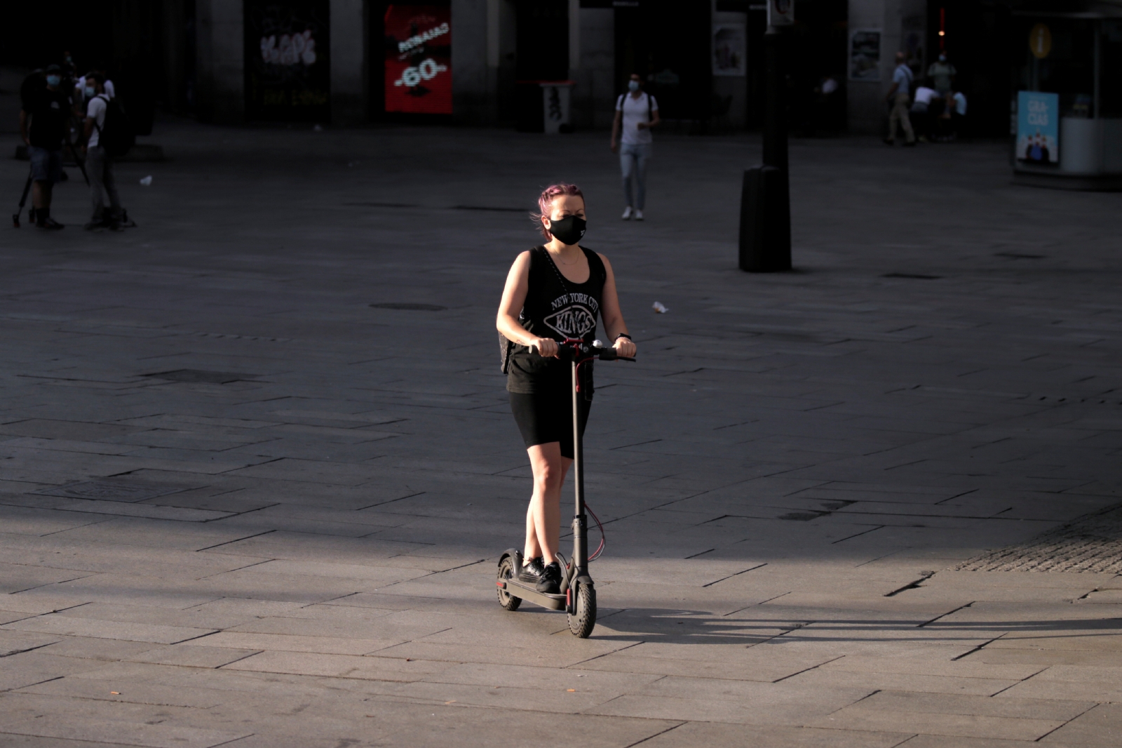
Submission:
M 518 321 L 540 338 L 581 338 L 591 344 L 596 339 L 596 319 L 600 313 L 604 283 L 608 273 L 595 252 L 580 248 L 588 259 L 588 280 L 573 283 L 561 274 L 545 247 L 530 250 L 530 288 Z M 581 392 L 592 396 L 592 363 L 582 364 Z M 516 345 L 507 368 L 506 389 L 509 392 L 536 394 L 560 393 L 571 386 L 569 363 L 558 358 L 542 358 L 526 346 Z M 559 394 L 560 394 L 559 393 Z

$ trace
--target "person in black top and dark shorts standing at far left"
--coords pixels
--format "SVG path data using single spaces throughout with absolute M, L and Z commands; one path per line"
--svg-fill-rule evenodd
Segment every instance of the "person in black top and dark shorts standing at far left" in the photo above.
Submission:
M 48 65 L 45 85 L 28 85 L 22 91 L 19 110 L 19 134 L 31 158 L 31 206 L 35 225 L 43 229 L 61 229 L 50 218 L 50 198 L 55 182 L 63 180 L 63 137 L 71 116 L 71 97 L 62 89 L 62 69 Z

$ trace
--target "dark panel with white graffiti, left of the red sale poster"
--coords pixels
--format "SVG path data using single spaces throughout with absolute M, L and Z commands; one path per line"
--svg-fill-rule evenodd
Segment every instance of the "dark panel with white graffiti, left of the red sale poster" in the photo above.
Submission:
M 329 0 L 245 0 L 246 117 L 331 117 Z

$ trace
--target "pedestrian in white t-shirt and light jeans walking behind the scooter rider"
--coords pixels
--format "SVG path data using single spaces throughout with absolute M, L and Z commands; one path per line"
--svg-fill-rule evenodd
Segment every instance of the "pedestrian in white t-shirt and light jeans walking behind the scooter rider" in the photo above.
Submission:
M 623 219 L 643 220 L 646 202 L 646 167 L 651 161 L 651 128 L 660 122 L 659 102 L 643 92 L 643 80 L 632 73 L 627 93 L 616 99 L 616 118 L 611 122 L 611 153 L 619 152 L 619 171 L 624 179 Z M 617 139 L 618 138 L 618 139 Z M 635 191 L 632 192 L 632 181 Z

